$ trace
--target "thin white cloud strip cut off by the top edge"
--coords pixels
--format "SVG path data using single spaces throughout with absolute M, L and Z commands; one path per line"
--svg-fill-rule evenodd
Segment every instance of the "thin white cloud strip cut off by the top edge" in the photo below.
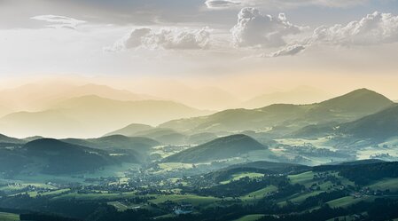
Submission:
M 229 9 L 237 7 L 269 7 L 269 8 L 292 8 L 300 6 L 324 6 L 332 8 L 346 8 L 359 4 L 365 4 L 369 0 L 207 0 L 205 2 L 209 9 Z

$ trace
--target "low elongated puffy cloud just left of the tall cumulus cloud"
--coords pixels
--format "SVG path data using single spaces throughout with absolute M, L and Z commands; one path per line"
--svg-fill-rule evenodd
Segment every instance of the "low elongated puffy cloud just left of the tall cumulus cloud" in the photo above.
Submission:
M 129 50 L 143 46 L 148 49 L 195 50 L 206 49 L 210 31 L 201 29 L 136 28 L 128 36 L 114 43 L 112 51 Z

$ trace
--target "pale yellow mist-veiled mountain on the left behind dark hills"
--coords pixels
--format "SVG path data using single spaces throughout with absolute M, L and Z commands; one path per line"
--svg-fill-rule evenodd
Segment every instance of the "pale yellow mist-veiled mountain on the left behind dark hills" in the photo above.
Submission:
M 60 101 L 40 112 L 19 112 L 0 118 L 7 134 L 51 138 L 98 137 L 126 122 L 157 124 L 179 117 L 208 114 L 165 100 L 123 101 L 95 95 Z

